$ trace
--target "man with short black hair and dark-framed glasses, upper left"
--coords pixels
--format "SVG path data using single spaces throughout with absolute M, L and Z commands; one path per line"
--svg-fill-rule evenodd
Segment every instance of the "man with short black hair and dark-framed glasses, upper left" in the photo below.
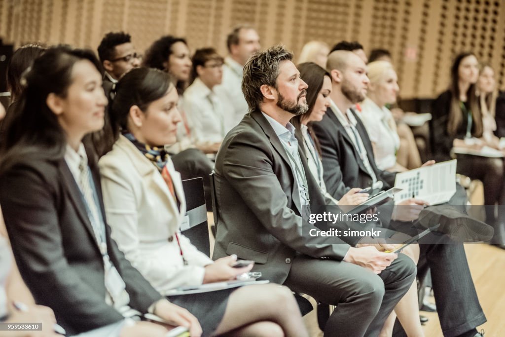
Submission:
M 98 46 L 98 57 L 105 69 L 104 90 L 109 93 L 117 81 L 128 71 L 140 67 L 141 56 L 125 32 L 107 33 Z

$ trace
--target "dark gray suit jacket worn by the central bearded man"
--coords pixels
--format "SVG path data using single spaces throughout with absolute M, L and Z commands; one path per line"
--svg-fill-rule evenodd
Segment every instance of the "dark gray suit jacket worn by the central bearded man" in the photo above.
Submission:
M 303 155 L 302 162 L 309 172 Z M 219 220 L 213 258 L 236 254 L 254 260 L 263 278 L 283 283 L 296 254 L 342 260 L 349 244 L 337 237 L 310 236 L 316 228 L 300 216 L 301 206 L 289 159 L 260 111 L 246 115 L 225 137 L 215 165 Z M 325 206 L 316 181 L 307 174 L 311 212 Z M 354 224 L 337 223 L 338 228 Z M 336 244 L 339 243 L 339 244 Z

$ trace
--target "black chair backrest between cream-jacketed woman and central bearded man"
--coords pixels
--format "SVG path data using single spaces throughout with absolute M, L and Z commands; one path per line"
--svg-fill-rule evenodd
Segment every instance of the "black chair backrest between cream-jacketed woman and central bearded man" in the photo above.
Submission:
M 181 224 L 181 232 L 191 240 L 200 252 L 211 256 L 207 207 L 205 204 L 204 179 L 201 177 L 182 180 L 186 197 L 186 219 Z

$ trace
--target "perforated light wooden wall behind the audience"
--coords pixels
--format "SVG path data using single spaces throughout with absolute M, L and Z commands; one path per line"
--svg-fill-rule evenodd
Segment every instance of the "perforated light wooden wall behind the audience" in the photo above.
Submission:
M 95 50 L 104 33 L 125 30 L 138 51 L 170 33 L 225 55 L 239 23 L 256 26 L 263 47 L 283 43 L 295 55 L 313 39 L 388 49 L 402 98 L 442 91 L 453 56 L 467 50 L 490 62 L 505 88 L 505 0 L 0 0 L 0 37 L 16 46 Z

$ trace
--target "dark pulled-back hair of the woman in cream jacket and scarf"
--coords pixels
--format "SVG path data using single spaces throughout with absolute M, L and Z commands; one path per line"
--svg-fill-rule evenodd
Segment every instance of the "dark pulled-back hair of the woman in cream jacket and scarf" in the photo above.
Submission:
M 149 104 L 165 96 L 171 86 L 170 75 L 158 69 L 135 68 L 116 84 L 116 95 L 109 109 L 113 141 L 128 129 L 128 115 L 134 105 L 146 111 Z

